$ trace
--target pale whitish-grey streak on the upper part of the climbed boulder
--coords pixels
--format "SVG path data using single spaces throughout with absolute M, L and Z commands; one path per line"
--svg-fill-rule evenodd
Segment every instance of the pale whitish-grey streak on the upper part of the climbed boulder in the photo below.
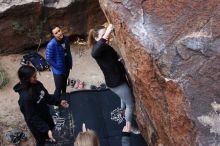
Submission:
M 165 31 L 163 27 L 153 24 L 151 16 L 144 13 L 141 1 L 121 0 L 119 2 L 122 3 L 126 11 L 121 14 L 121 17 L 127 21 L 128 29 L 146 48 L 145 51 L 155 57 L 165 51 L 165 42 L 161 39 L 165 35 Z M 104 6 L 107 7 L 107 3 Z

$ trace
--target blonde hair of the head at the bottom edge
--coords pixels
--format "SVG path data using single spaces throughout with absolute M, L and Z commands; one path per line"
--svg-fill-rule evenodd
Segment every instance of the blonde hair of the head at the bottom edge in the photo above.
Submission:
M 74 146 L 100 146 L 100 143 L 96 133 L 93 130 L 87 130 L 77 135 Z

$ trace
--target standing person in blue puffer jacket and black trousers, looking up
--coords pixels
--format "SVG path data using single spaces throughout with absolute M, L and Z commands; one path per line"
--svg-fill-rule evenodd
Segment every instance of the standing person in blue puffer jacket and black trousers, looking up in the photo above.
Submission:
M 47 45 L 46 60 L 51 65 L 54 76 L 54 95 L 60 98 L 61 93 L 66 93 L 67 79 L 72 69 L 72 55 L 69 39 L 63 35 L 60 27 L 51 27 L 50 33 L 53 38 Z

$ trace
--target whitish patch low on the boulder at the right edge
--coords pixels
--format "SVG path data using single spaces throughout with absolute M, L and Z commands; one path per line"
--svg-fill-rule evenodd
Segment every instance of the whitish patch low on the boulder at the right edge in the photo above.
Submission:
M 220 135 L 220 114 L 216 112 L 220 110 L 220 104 L 214 101 L 211 103 L 211 106 L 215 112 L 210 112 L 208 115 L 202 115 L 198 117 L 198 120 L 202 125 L 211 127 L 210 133 Z

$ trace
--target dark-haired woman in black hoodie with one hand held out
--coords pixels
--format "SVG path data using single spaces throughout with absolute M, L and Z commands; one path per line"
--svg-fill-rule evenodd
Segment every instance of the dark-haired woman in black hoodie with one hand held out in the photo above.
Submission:
M 34 67 L 20 67 L 18 77 L 20 82 L 14 86 L 14 91 L 20 95 L 18 100 L 20 110 L 37 146 L 44 146 L 46 139 L 54 140 L 52 129 L 55 125 L 48 104 L 61 105 L 65 108 L 69 105 L 67 101 L 49 95 L 43 84 L 37 80 Z

